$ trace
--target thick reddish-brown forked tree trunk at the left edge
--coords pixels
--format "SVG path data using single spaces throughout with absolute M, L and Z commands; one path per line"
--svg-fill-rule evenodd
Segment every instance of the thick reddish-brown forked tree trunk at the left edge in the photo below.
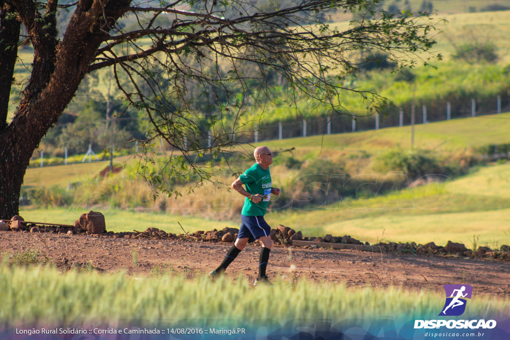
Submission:
M 7 6 L 4 1 L 0 0 L 2 9 Z M 33 0 L 10 2 L 11 6 L 16 6 L 21 21 L 29 30 L 34 63 L 14 119 L 7 127 L 5 123 L 0 125 L 4 126 L 0 128 L 0 219 L 10 219 L 18 214 L 21 185 L 34 150 L 78 90 L 109 25 L 122 14 L 118 8 L 128 6 L 130 2 L 80 1 L 59 43 L 55 29 L 57 1 L 48 1 L 44 18 L 37 17 L 40 15 Z M 11 80 L 12 75 L 12 72 L 8 75 Z M 5 98 L 0 102 L 5 102 Z

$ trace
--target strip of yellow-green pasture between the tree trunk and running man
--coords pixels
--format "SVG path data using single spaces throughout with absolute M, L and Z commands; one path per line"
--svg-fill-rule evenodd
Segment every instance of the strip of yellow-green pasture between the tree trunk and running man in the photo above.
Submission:
M 159 210 L 120 210 L 120 209 L 105 209 L 104 207 L 91 207 L 89 210 L 99 211 L 105 215 L 107 231 L 144 231 L 148 227 L 155 227 L 166 232 L 173 232 L 176 234 L 183 233 L 183 229 L 179 223 L 188 232 L 196 230 L 213 230 L 223 229 L 224 227 L 239 228 L 239 224 L 232 221 L 217 221 L 208 220 L 201 217 L 172 215 L 162 213 Z M 73 211 L 70 208 L 51 208 L 51 209 L 23 209 L 21 208 L 19 214 L 25 221 L 32 222 L 48 222 L 58 224 L 72 224 L 78 220 L 81 214 L 88 213 L 86 211 Z M 179 223 L 178 223 L 179 222 Z

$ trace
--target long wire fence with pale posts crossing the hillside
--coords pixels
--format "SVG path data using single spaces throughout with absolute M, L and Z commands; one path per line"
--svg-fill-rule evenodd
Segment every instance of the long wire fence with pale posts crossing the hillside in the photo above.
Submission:
M 414 110 L 415 124 L 426 124 L 429 122 L 445 121 L 456 118 L 476 117 L 482 115 L 499 114 L 501 112 L 510 111 L 510 97 L 498 95 L 494 99 L 458 99 L 458 100 L 435 100 L 432 102 L 417 101 Z M 133 120 L 136 118 L 120 118 Z M 296 137 L 310 137 L 317 135 L 331 135 L 360 132 L 365 130 L 380 129 L 386 127 L 411 125 L 413 120 L 412 105 L 408 104 L 402 108 L 390 108 L 384 114 L 374 114 L 364 117 L 352 117 L 349 114 L 336 114 L 333 116 L 322 116 L 308 119 L 293 119 L 271 124 L 261 124 L 252 130 L 239 133 L 233 136 L 237 143 L 258 143 L 265 140 L 277 140 Z M 105 128 L 108 128 L 105 124 Z M 110 125 L 115 128 L 115 124 Z M 135 132 L 126 130 L 129 135 Z M 139 133 L 139 132 L 138 132 Z M 190 140 L 192 137 L 190 136 Z M 214 145 L 214 137 L 211 133 L 209 136 L 201 136 L 204 147 Z M 112 144 L 105 145 L 105 150 L 111 150 L 119 147 L 120 141 L 114 141 Z M 164 142 L 159 143 L 161 151 L 171 149 L 170 145 Z M 186 143 L 185 143 L 186 144 Z M 136 147 L 135 144 L 133 147 Z M 66 148 L 67 150 L 67 148 Z M 114 149 L 115 150 L 115 149 Z M 103 150 L 96 150 L 103 152 Z M 83 161 L 92 161 L 94 150 L 89 146 L 87 157 L 83 156 Z M 43 150 L 37 155 L 40 163 L 37 166 L 49 165 L 44 162 Z M 71 156 L 71 154 L 69 154 Z M 67 151 L 65 152 L 65 161 L 58 164 L 67 164 Z M 35 162 L 33 163 L 35 165 Z M 39 165 L 40 164 L 40 165 Z M 34 166 L 32 165 L 32 166 Z

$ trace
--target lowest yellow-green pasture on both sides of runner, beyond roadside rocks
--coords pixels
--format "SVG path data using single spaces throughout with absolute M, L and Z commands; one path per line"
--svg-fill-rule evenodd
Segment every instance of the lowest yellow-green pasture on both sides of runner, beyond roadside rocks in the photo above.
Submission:
M 399 188 L 389 195 L 325 201 L 310 209 L 273 210 L 266 215 L 270 225 L 284 224 L 302 231 L 304 236 L 348 234 L 363 242 L 461 242 L 499 248 L 510 244 L 510 163 L 475 169 L 471 174 L 431 182 L 412 190 Z M 285 188 L 283 188 L 285 190 Z M 228 196 L 230 197 L 230 196 Z M 231 208 L 234 208 L 231 206 Z M 86 209 L 87 210 L 87 209 Z M 92 207 L 92 210 L 94 208 Z M 181 233 L 186 231 L 239 227 L 237 220 L 218 221 L 190 215 L 161 212 L 158 208 L 120 210 L 97 207 L 103 212 L 107 230 L 131 231 L 157 227 Z M 71 208 L 48 210 L 28 208 L 20 211 L 25 220 L 72 224 L 87 211 Z

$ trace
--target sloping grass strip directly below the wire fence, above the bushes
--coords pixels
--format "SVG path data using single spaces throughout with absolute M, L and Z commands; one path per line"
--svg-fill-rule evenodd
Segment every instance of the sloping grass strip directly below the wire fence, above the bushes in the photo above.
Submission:
M 510 113 L 417 124 L 415 125 L 415 147 L 438 152 L 455 152 L 469 147 L 510 143 L 508 130 L 510 130 Z M 267 145 L 273 151 L 295 147 L 294 156 L 298 159 L 302 159 L 305 154 L 309 154 L 312 158 L 319 155 L 331 156 L 331 158 L 337 158 L 339 155 L 357 156 L 362 152 L 374 155 L 390 147 L 411 147 L 411 126 L 271 140 L 254 146 L 258 145 Z M 248 154 L 253 152 L 251 145 L 240 145 L 237 149 L 244 150 Z M 114 159 L 115 164 L 122 165 L 126 161 L 129 162 L 128 156 Z M 109 165 L 110 162 L 104 161 L 29 168 L 25 173 L 23 185 L 28 187 L 68 186 L 69 182 L 72 184 L 95 180 L 97 174 Z M 124 171 L 116 176 L 124 176 Z

